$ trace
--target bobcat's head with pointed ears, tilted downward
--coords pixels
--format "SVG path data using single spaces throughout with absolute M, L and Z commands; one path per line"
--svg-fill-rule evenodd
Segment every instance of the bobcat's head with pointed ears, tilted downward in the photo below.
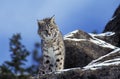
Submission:
M 38 34 L 43 40 L 51 40 L 56 37 L 58 27 L 55 24 L 54 17 L 45 18 L 38 21 Z

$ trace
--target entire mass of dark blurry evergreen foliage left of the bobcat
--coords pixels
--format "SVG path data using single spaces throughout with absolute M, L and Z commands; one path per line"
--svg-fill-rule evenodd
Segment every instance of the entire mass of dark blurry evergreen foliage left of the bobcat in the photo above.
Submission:
M 21 43 L 21 35 L 15 34 L 10 39 L 10 57 L 11 61 L 5 61 L 0 66 L 0 79 L 29 79 L 30 76 L 37 74 L 40 57 L 38 50 L 40 48 L 39 43 L 35 43 L 34 50 L 28 51 Z M 27 57 L 32 54 L 32 61 L 37 64 L 32 64 L 29 67 L 25 67 L 27 63 Z

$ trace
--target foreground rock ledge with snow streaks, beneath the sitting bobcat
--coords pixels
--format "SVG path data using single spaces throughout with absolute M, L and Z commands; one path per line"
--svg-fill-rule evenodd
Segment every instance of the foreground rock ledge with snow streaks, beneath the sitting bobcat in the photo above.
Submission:
M 116 56 L 119 57 L 116 58 Z M 100 60 L 102 60 L 102 62 L 100 62 Z M 83 68 L 65 69 L 56 73 L 46 74 L 42 78 L 48 77 L 47 79 L 120 79 L 119 48 L 94 61 L 96 62 L 89 64 Z

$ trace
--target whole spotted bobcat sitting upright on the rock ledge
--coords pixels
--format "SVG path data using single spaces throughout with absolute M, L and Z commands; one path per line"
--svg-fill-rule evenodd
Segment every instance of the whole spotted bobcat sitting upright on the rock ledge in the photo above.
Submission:
M 65 47 L 54 17 L 38 21 L 38 34 L 42 41 L 43 64 L 39 76 L 64 68 Z

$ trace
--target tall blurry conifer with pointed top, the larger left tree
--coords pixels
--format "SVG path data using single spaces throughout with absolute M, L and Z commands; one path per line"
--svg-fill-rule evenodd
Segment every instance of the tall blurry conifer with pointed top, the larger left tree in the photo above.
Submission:
M 23 75 L 25 68 L 25 62 L 27 62 L 26 57 L 30 54 L 24 45 L 20 42 L 20 34 L 13 35 L 10 39 L 10 51 L 12 52 L 12 61 L 7 61 L 6 64 L 11 67 L 14 74 Z

